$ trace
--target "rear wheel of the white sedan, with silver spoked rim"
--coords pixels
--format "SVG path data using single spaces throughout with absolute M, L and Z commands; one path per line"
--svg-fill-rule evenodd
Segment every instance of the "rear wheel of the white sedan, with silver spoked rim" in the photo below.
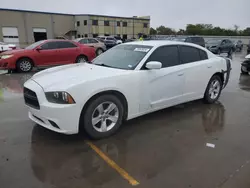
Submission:
M 205 94 L 204 94 L 204 102 L 208 104 L 212 104 L 218 100 L 220 97 L 222 90 L 222 81 L 221 78 L 218 75 L 214 75 L 206 88 Z

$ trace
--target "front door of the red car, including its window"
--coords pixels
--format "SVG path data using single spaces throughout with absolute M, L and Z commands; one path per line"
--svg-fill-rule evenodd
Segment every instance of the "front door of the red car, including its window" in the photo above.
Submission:
M 56 65 L 60 59 L 58 54 L 58 43 L 55 41 L 42 44 L 41 50 L 36 50 L 34 61 L 37 66 L 47 67 Z

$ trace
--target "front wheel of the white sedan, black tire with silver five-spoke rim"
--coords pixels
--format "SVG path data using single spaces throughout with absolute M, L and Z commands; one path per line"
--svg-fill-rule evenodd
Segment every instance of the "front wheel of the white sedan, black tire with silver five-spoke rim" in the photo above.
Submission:
M 82 115 L 87 134 L 93 139 L 101 139 L 111 136 L 120 128 L 124 107 L 116 96 L 102 95 L 91 101 Z

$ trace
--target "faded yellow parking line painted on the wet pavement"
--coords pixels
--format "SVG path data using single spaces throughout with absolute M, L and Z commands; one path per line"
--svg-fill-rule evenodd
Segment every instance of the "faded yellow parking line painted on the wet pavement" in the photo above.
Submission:
M 119 167 L 113 160 L 111 160 L 107 155 L 105 155 L 98 147 L 96 147 L 91 142 L 87 142 L 87 144 L 104 160 L 109 164 L 113 169 L 115 169 L 124 179 L 128 180 L 128 182 L 135 186 L 139 185 L 139 182 L 136 181 L 133 177 L 131 177 L 125 170 Z

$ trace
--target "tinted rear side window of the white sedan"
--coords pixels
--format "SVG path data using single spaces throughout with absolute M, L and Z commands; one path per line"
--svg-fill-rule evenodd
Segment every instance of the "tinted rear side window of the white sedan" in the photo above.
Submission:
M 180 46 L 181 63 L 200 61 L 199 49 L 189 46 Z

